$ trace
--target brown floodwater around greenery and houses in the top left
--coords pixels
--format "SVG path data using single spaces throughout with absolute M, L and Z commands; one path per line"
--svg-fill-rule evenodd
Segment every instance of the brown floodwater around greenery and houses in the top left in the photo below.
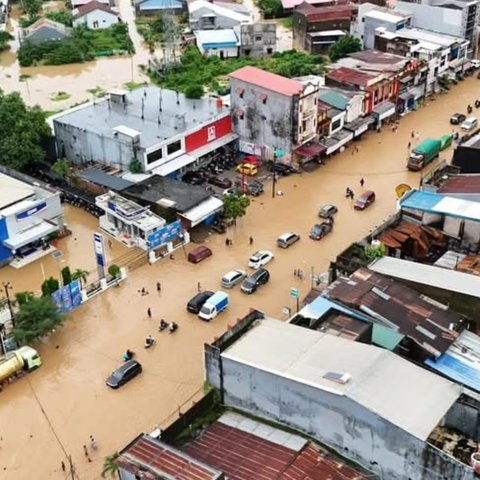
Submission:
M 64 2 L 57 3 L 61 8 Z M 135 46 L 132 56 L 103 57 L 93 62 L 59 66 L 20 67 L 12 50 L 0 54 L 0 88 L 7 92 L 19 91 L 26 103 L 40 105 L 46 110 L 63 110 L 75 103 L 91 100 L 89 89 L 100 87 L 104 90 L 124 87 L 127 82 L 143 82 L 148 78 L 140 71 L 140 65 L 147 65 L 150 54 L 135 27 L 133 8 L 129 0 L 117 2 L 120 15 L 128 23 L 130 37 Z M 18 38 L 18 5 L 12 7 L 9 30 Z M 24 76 L 20 81 L 20 76 Z M 70 95 L 68 100 L 53 101 L 51 95 L 63 91 Z

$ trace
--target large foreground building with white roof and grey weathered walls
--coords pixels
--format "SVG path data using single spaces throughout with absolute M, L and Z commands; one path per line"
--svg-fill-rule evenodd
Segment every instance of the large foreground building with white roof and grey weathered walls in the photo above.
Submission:
M 308 432 L 382 478 L 475 478 L 478 402 L 388 350 L 245 318 L 204 353 L 223 404 Z

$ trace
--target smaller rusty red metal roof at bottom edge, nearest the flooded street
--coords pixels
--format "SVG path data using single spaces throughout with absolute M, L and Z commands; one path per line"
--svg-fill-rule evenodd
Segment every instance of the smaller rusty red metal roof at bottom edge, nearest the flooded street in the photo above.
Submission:
M 170 476 L 176 480 L 216 480 L 221 472 L 207 465 L 202 465 L 195 458 L 147 436 L 140 438 L 127 450 L 122 452 L 118 464 L 135 474 L 138 467 L 146 469 L 155 476 Z M 162 476 L 163 475 L 163 476 Z

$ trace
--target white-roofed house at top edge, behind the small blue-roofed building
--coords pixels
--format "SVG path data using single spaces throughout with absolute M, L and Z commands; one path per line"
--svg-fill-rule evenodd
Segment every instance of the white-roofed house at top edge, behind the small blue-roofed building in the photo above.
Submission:
M 222 30 L 253 23 L 251 12 L 236 11 L 206 0 L 190 2 L 188 16 L 192 30 Z

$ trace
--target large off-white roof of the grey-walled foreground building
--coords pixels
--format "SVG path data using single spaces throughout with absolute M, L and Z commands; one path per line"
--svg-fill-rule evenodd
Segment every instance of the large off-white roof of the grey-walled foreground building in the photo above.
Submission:
M 272 319 L 257 321 L 222 358 L 348 397 L 423 441 L 462 393 L 382 348 Z

